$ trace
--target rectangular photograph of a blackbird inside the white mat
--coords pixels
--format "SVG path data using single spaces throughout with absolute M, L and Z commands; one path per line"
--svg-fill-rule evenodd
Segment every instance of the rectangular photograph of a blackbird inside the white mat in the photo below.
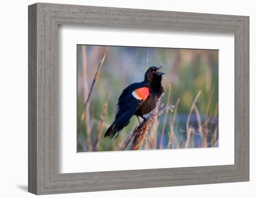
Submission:
M 77 152 L 219 147 L 218 53 L 77 45 Z

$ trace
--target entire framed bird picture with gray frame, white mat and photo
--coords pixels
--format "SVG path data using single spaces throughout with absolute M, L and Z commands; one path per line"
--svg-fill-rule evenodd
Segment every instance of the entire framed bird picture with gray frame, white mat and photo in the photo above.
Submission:
M 28 7 L 28 191 L 249 181 L 249 17 Z

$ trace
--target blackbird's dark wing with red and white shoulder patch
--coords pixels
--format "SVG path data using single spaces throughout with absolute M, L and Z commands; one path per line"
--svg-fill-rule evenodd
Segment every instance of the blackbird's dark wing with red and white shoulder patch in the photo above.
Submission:
M 118 104 L 116 105 L 115 110 L 115 121 L 108 128 L 105 137 L 109 136 L 110 138 L 113 138 L 116 133 L 119 134 L 122 128 L 128 125 L 131 117 L 135 114 L 136 110 L 147 99 L 149 95 L 148 87 L 131 89 L 132 85 L 124 89 L 121 96 L 119 97 Z

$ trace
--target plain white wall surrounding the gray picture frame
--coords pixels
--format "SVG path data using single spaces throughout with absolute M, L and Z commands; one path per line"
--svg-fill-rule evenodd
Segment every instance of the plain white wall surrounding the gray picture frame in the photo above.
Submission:
M 32 197 L 27 192 L 27 5 L 34 0 L 1 1 L 0 10 L 0 196 Z M 256 197 L 256 12 L 253 0 L 44 0 L 49 3 L 115 6 L 198 13 L 250 16 L 250 182 L 164 187 L 108 192 L 51 195 L 51 197 L 135 198 L 255 198 Z M 254 90 L 254 91 L 253 91 Z

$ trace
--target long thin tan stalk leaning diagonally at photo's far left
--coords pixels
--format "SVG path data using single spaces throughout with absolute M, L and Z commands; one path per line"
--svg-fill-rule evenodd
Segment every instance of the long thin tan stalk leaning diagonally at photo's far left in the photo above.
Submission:
M 86 102 L 85 102 L 85 104 L 84 104 L 84 110 L 83 110 L 83 113 L 82 113 L 82 116 L 81 116 L 80 125 L 79 125 L 79 128 L 78 128 L 78 130 L 77 130 L 77 139 L 79 138 L 79 134 L 80 134 L 80 131 L 81 131 L 81 127 L 82 127 L 82 124 L 83 124 L 83 121 L 84 121 L 84 117 L 85 117 L 85 114 L 86 114 L 87 105 L 88 105 L 90 96 L 91 96 L 92 91 L 93 91 L 94 83 L 95 83 L 95 81 L 96 81 L 96 79 L 97 79 L 97 77 L 98 77 L 98 75 L 99 75 L 99 72 L 100 72 L 101 66 L 102 66 L 102 64 L 103 64 L 103 62 L 104 62 L 104 60 L 105 60 L 105 57 L 106 57 L 106 53 L 107 53 L 107 51 L 108 51 L 108 48 L 109 48 L 109 47 L 106 46 L 105 49 L 104 49 L 103 55 L 102 55 L 102 57 L 101 57 L 101 62 L 100 62 L 100 64 L 99 64 L 99 66 L 98 66 L 98 69 L 97 69 L 95 75 L 94 75 L 94 79 L 93 79 L 93 82 L 92 82 L 92 85 L 91 85 L 91 88 L 90 88 L 90 91 L 89 91 L 87 100 L 86 100 Z M 88 138 L 88 137 L 87 137 L 87 138 Z M 89 137 L 88 139 L 90 139 L 90 137 Z M 78 141 L 77 141 L 77 142 L 78 142 Z

